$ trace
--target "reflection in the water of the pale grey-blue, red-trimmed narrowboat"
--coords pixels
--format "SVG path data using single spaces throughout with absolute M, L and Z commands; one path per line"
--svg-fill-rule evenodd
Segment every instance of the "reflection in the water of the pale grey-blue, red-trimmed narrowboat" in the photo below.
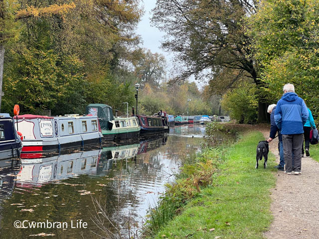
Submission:
M 80 174 L 95 175 L 101 149 L 90 151 L 62 152 L 62 155 L 42 155 L 34 158 L 33 153 L 21 155 L 21 171 L 17 175 L 20 186 L 36 185 L 66 179 Z M 38 155 L 39 156 L 39 155 Z

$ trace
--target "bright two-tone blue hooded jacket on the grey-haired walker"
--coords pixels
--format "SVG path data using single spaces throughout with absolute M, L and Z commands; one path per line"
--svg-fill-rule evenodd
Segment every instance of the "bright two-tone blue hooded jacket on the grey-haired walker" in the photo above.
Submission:
M 304 133 L 308 117 L 306 103 L 294 92 L 285 93 L 277 103 L 274 118 L 282 134 Z

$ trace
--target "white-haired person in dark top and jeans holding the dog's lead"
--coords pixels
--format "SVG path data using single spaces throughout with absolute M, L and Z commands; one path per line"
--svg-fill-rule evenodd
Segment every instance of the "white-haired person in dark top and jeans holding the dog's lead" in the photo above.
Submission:
M 280 130 L 277 127 L 277 124 L 275 123 L 275 110 L 276 110 L 275 104 L 270 105 L 267 110 L 267 112 L 270 114 L 270 125 L 271 125 L 270 134 L 267 141 L 271 142 L 276 137 L 276 134 L 278 132 L 280 161 L 279 161 L 279 164 L 275 166 L 275 168 L 277 168 L 278 170 L 284 171 L 284 167 L 285 167 L 284 144 L 283 144 L 283 138 L 280 133 Z

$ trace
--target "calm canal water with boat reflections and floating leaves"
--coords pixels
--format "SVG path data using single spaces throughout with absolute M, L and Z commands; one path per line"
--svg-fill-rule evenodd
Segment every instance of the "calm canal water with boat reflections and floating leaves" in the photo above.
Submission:
M 136 142 L 0 161 L 0 238 L 127 238 L 181 159 L 200 150 L 204 130 L 176 126 Z

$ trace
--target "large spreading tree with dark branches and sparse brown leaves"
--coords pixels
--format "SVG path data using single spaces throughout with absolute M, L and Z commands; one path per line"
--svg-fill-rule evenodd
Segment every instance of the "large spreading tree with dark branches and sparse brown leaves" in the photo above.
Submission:
M 245 34 L 247 15 L 256 12 L 255 0 L 158 0 L 152 22 L 167 33 L 162 46 L 177 53 L 181 78 L 195 75 L 215 79 L 231 77 L 224 85 L 232 87 L 243 76 L 253 79 L 257 88 L 258 65 Z M 182 69 L 180 64 L 184 63 Z M 231 73 L 231 74 L 229 74 Z M 259 99 L 259 120 L 266 119 L 266 104 Z

